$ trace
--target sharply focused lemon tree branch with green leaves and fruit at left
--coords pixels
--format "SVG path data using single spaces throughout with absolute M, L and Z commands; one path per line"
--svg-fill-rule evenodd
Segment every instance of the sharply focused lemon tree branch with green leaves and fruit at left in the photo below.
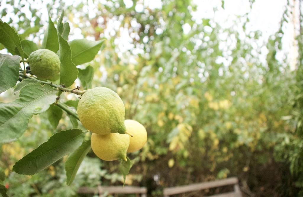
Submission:
M 131 166 L 124 164 L 130 164 L 126 157 L 130 137 L 125 134 L 124 104 L 118 94 L 108 88 L 91 89 L 94 74 L 91 66 L 86 65 L 85 69 L 76 67 L 91 62 L 103 40 L 75 39 L 68 42 L 70 27 L 68 22 L 63 22 L 63 16 L 64 11 L 56 26 L 48 17 L 42 45 L 22 39 L 15 29 L 0 20 L 0 43 L 11 53 L 0 54 L 0 93 L 12 87 L 15 87 L 15 94 L 19 93 L 18 99 L 0 103 L 0 143 L 17 140 L 28 128 L 29 119 L 45 111 L 56 129 L 65 112 L 73 128 L 53 134 L 20 159 L 12 170 L 34 175 L 69 155 L 65 170 L 70 185 L 83 158 L 92 148 L 103 160 L 120 159 L 124 167 L 119 169 L 125 181 Z M 77 78 L 82 83 L 81 90 L 74 85 Z M 78 95 L 78 100 L 66 100 L 66 92 Z M 94 132 L 91 141 L 88 140 L 89 131 Z M 0 184 L 0 189 L 3 187 Z M 1 190 L 2 195 L 6 191 Z

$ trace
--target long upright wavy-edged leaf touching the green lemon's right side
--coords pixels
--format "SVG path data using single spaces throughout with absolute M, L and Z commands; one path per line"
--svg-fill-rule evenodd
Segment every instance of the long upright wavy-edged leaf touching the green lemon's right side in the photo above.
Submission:
M 60 84 L 71 86 L 78 76 L 78 68 L 72 63 L 72 51 L 68 42 L 59 34 Z

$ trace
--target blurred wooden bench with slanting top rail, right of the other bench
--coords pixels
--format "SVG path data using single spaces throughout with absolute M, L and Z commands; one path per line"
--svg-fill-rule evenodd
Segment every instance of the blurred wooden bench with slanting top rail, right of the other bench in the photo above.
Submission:
M 163 190 L 163 195 L 164 195 L 164 197 L 168 197 L 170 195 L 182 194 L 182 193 L 186 193 L 186 192 L 194 192 L 194 191 L 198 191 L 198 190 L 216 188 L 216 187 L 221 187 L 221 186 L 226 186 L 226 185 L 234 185 L 234 191 L 225 192 L 222 194 L 211 195 L 211 196 L 207 196 L 207 197 L 242 197 L 241 191 L 240 191 L 240 188 L 238 185 L 238 178 L 236 178 L 236 177 L 226 178 L 226 179 L 222 179 L 222 180 L 218 180 L 218 181 L 209 181 L 209 182 L 195 183 L 195 184 L 191 184 L 191 185 L 165 188 Z

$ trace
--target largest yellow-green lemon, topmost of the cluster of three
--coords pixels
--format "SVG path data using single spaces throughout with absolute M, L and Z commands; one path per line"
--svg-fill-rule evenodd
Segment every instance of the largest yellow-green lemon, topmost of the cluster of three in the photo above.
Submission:
M 93 133 L 125 134 L 123 101 L 106 87 L 86 90 L 78 103 L 77 113 L 83 126 Z

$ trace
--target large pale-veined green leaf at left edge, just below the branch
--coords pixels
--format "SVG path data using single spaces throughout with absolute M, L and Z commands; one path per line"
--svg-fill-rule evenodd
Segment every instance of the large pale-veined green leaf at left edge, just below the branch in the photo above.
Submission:
M 11 103 L 0 103 L 0 143 L 19 138 L 33 114 L 41 114 L 57 98 L 57 90 L 39 82 L 28 84 L 20 91 L 20 98 Z

